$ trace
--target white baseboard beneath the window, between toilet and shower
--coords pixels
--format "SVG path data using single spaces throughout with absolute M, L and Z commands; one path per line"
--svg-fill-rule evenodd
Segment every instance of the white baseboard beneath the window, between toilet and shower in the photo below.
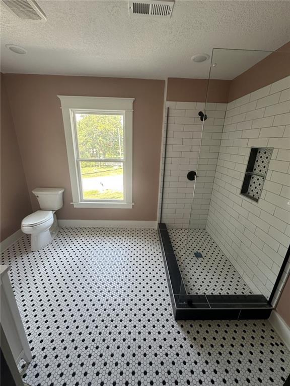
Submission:
M 58 220 L 60 227 L 92 227 L 92 228 L 154 228 L 157 221 L 131 220 Z

